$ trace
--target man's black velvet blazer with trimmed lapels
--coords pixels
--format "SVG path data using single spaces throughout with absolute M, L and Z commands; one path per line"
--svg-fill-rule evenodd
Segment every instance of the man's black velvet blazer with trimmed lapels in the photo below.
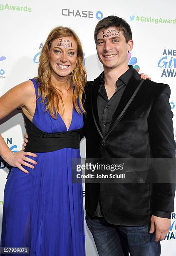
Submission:
M 146 79 L 123 118 L 104 139 L 97 111 L 100 77 L 101 74 L 85 87 L 86 158 L 175 158 L 169 86 Z M 113 115 L 110 130 L 139 83 L 139 74 L 134 69 Z M 100 191 L 104 217 L 112 224 L 149 225 L 152 214 L 170 218 L 174 211 L 175 184 L 87 183 L 85 209 L 92 217 L 97 210 Z

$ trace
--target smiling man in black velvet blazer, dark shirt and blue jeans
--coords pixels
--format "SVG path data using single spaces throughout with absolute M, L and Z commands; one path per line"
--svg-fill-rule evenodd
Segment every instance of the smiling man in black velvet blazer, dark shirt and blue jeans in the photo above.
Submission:
M 86 158 L 175 159 L 170 88 L 141 81 L 128 66 L 129 24 L 104 18 L 94 39 L 104 72 L 86 85 Z M 171 183 L 85 184 L 86 222 L 99 255 L 159 256 L 174 194 Z

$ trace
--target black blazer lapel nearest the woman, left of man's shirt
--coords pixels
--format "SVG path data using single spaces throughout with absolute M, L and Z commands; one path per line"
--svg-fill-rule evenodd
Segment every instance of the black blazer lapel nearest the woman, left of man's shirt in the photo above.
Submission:
M 95 126 L 97 128 L 97 131 L 99 132 L 99 135 L 101 136 L 101 138 L 103 138 L 102 128 L 101 128 L 100 123 L 99 123 L 98 106 L 97 106 L 97 97 L 98 97 L 99 83 L 100 83 L 101 75 L 102 75 L 102 73 L 99 75 L 99 77 L 94 79 L 94 82 L 92 84 L 91 104 L 92 104 L 92 115 L 93 115 Z

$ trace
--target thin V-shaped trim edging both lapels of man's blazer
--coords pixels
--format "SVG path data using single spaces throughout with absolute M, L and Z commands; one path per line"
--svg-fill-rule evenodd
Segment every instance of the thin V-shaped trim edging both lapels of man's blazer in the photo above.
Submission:
M 95 81 L 95 79 L 94 79 Z M 126 112 L 126 110 L 129 108 L 129 105 L 131 104 L 131 102 L 133 101 L 134 97 L 136 96 L 136 93 L 139 91 L 139 89 L 141 88 L 141 85 L 143 84 L 144 82 L 144 79 L 141 80 L 141 82 L 139 83 L 139 85 L 137 86 L 136 90 L 134 91 L 133 95 L 131 96 L 131 98 L 129 99 L 129 101 L 127 102 L 126 106 L 124 107 L 124 109 L 122 110 L 122 112 L 120 113 L 120 115 L 118 116 L 116 122 L 114 123 L 114 125 L 112 126 L 112 128 L 108 131 L 108 133 L 106 134 L 105 137 L 103 137 L 101 131 L 99 130 L 99 127 L 97 125 L 97 122 L 95 120 L 95 117 L 94 117 L 94 111 L 93 111 L 93 105 L 92 105 L 92 115 L 93 115 L 93 119 L 94 119 L 94 123 L 96 125 L 96 128 L 101 136 L 101 138 L 103 140 L 105 140 L 107 138 L 107 136 L 114 130 L 114 128 L 116 127 L 116 125 L 120 122 L 121 118 L 123 117 L 124 113 Z M 92 83 L 92 86 L 93 86 L 94 82 Z M 92 93 L 92 92 L 91 92 Z

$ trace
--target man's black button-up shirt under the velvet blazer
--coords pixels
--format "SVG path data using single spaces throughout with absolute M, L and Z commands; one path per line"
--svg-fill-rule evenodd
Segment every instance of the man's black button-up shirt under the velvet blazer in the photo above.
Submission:
M 97 106 L 98 106 L 99 123 L 102 128 L 103 136 L 106 136 L 107 132 L 109 131 L 109 128 L 112 122 L 112 116 L 114 115 L 114 112 L 119 105 L 121 96 L 132 74 L 133 74 L 133 66 L 129 65 L 129 69 L 124 74 L 122 74 L 116 82 L 116 86 L 117 86 L 116 92 L 114 92 L 112 97 L 108 100 L 107 92 L 104 86 L 105 85 L 104 72 L 102 73 L 102 77 L 100 79 L 98 97 L 97 97 Z M 103 217 L 100 198 L 99 198 L 99 203 L 97 205 L 97 211 L 95 216 Z

